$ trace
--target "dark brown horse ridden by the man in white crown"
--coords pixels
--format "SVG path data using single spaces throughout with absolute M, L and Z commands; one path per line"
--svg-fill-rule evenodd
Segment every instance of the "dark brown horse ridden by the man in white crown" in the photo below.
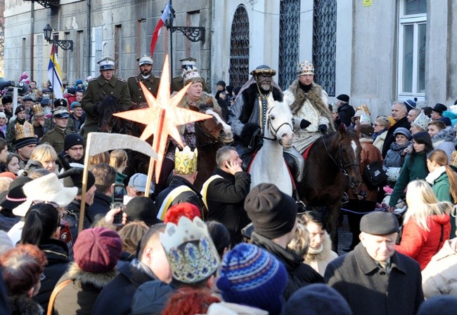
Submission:
M 344 126 L 314 142 L 304 165 L 300 199 L 310 208 L 326 207 L 333 250 L 337 250 L 337 228 L 341 197 L 350 187 L 359 189 L 361 145 L 359 134 Z

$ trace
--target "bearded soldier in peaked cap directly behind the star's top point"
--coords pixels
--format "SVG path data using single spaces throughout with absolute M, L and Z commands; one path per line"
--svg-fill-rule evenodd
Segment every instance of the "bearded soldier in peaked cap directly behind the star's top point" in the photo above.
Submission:
M 159 89 L 159 79 L 155 78 L 155 76 L 153 76 L 151 73 L 153 71 L 152 58 L 145 55 L 136 61 L 139 62 L 140 73 L 136 76 L 129 77 L 129 79 L 127 79 L 127 85 L 129 86 L 131 102 L 139 105 L 143 102 L 146 102 L 146 98 L 144 97 L 140 82 L 144 84 L 150 93 L 153 93 L 154 96 L 157 96 L 157 90 Z

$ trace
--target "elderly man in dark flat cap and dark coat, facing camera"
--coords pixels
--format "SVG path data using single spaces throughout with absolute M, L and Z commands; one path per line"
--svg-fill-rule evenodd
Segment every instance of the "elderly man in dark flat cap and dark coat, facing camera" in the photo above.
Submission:
M 349 303 L 354 315 L 414 315 L 424 300 L 418 262 L 395 251 L 399 223 L 375 211 L 360 221 L 354 250 L 328 264 L 324 279 Z

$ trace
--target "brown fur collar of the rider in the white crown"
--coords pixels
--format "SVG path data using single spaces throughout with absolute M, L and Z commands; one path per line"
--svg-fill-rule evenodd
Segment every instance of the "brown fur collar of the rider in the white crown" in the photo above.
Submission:
M 336 130 L 335 126 L 333 126 L 334 124 L 332 113 L 330 113 L 330 109 L 328 109 L 328 104 L 325 104 L 322 100 L 322 87 L 314 82 L 311 84 L 312 86 L 307 93 L 305 93 L 302 88 L 300 88 L 298 79 L 290 84 L 288 90 L 294 96 L 294 101 L 292 102 L 292 105 L 290 105 L 292 115 L 296 116 L 297 112 L 300 110 L 300 108 L 302 108 L 303 103 L 308 100 L 317 109 L 319 116 L 324 116 L 326 119 L 328 119 L 328 121 L 330 121 L 328 131 L 330 133 L 334 133 Z

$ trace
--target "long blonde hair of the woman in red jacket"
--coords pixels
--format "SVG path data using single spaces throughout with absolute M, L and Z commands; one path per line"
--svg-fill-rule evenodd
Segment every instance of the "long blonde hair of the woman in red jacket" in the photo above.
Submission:
M 452 211 L 450 202 L 438 202 L 432 187 L 425 180 L 413 180 L 408 184 L 406 203 L 408 210 L 403 224 L 414 219 L 418 226 L 427 232 L 430 231 L 427 225 L 427 217 L 430 215 L 449 215 Z

